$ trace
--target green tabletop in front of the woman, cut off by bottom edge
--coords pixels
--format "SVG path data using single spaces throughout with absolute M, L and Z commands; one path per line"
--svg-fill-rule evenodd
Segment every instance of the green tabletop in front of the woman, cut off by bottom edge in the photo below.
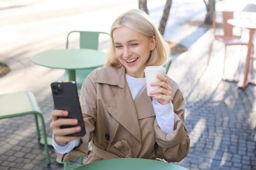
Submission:
M 141 159 L 117 158 L 107 159 L 82 165 L 74 170 L 188 170 L 172 163 Z

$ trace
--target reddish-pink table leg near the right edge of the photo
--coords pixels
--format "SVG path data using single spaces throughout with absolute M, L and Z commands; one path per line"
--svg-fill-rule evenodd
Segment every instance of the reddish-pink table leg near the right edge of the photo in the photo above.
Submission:
M 251 51 L 252 51 L 252 44 L 253 44 L 253 35 L 255 33 L 255 29 L 250 29 L 250 35 L 249 35 L 249 42 L 248 42 L 248 49 L 247 49 L 247 56 L 246 56 L 246 62 L 244 67 L 244 78 L 242 83 L 238 83 L 239 87 L 242 87 L 242 89 L 245 89 L 248 85 L 248 73 L 249 73 L 249 65 L 251 61 Z M 253 68 L 252 68 L 253 69 Z M 249 78 L 251 78 L 252 75 L 249 75 Z

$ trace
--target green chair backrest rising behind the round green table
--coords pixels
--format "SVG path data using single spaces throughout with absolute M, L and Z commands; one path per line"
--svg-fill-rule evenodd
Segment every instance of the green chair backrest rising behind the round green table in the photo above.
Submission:
M 105 32 L 94 32 L 94 31 L 72 31 L 67 35 L 66 48 L 69 47 L 69 36 L 72 33 L 79 33 L 79 48 L 81 49 L 93 49 L 98 50 L 98 41 L 100 34 L 106 34 Z

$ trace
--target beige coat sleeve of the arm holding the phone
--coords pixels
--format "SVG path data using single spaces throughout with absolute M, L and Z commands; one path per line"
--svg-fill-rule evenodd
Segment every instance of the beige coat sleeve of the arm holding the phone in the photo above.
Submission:
M 95 84 L 89 77 L 85 79 L 82 85 L 79 100 L 83 114 L 86 135 L 81 137 L 80 145 L 75 147 L 69 153 L 60 154 L 55 151 L 61 162 L 73 160 L 82 155 L 87 155 L 88 143 L 93 138 L 96 121 L 96 89 Z

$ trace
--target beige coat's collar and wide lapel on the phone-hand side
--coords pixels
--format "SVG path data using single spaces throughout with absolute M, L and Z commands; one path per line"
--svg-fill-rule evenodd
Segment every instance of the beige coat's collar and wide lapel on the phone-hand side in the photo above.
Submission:
M 120 88 L 120 91 L 105 104 L 105 108 L 111 116 L 141 142 L 136 107 L 125 80 L 125 67 L 111 67 L 104 74 L 98 74 L 95 81 L 97 83 L 117 85 Z

